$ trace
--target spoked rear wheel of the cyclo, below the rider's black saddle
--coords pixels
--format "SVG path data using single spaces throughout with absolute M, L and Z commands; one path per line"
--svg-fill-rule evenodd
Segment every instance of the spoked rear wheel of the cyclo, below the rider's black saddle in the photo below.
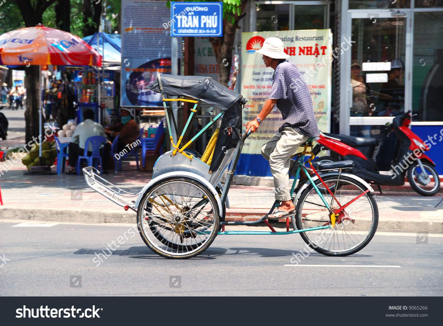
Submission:
M 329 184 L 336 184 L 337 179 L 338 174 L 326 176 L 323 181 L 329 186 Z M 317 185 L 321 181 L 316 180 L 315 183 Z M 340 188 L 337 190 L 335 198 L 342 206 L 367 189 L 360 182 L 343 175 L 340 176 L 339 183 Z M 330 205 L 332 196 L 328 193 L 324 194 L 323 197 Z M 323 209 L 319 207 L 323 207 Z M 338 204 L 334 202 L 331 207 L 338 209 Z M 335 226 L 331 228 L 332 232 L 327 233 L 327 230 L 330 229 L 302 232 L 300 235 L 303 241 L 316 252 L 326 256 L 348 256 L 363 249 L 373 238 L 378 225 L 378 208 L 373 194 L 367 192 L 347 206 L 344 211 L 345 213 L 340 214 Z M 294 228 L 301 230 L 328 224 L 331 224 L 329 211 L 315 192 L 314 187 L 309 185 L 297 202 L 295 217 L 292 217 L 292 225 Z M 329 234 L 327 239 L 324 236 L 325 234 Z

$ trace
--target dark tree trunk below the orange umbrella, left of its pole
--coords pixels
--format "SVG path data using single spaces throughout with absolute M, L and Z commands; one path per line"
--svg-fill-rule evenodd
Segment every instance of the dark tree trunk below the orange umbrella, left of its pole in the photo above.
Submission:
M 39 137 L 39 66 L 29 66 L 25 70 L 26 87 L 26 143 L 32 136 Z

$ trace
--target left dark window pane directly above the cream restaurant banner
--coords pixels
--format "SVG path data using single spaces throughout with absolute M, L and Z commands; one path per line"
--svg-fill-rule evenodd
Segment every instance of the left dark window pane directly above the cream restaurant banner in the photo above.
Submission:
M 257 31 L 289 31 L 289 4 L 257 4 Z

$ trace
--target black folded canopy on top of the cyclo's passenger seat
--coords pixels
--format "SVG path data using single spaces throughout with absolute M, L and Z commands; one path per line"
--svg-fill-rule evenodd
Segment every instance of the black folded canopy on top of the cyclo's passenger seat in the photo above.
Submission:
M 241 94 L 215 82 L 212 78 L 202 76 L 159 74 L 157 80 L 148 85 L 148 89 L 160 93 L 159 78 L 161 78 L 163 93 L 166 95 L 192 97 L 223 111 L 242 98 Z

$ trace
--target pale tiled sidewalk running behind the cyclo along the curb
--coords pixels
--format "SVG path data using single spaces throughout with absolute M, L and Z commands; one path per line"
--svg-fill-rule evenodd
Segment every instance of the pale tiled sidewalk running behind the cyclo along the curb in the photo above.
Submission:
M 3 164 L 5 162 L 0 163 Z M 9 163 L 7 164 L 9 166 Z M 52 168 L 55 171 L 55 167 Z M 111 214 L 114 219 L 116 216 L 135 216 L 87 187 L 83 175 L 24 175 L 25 171 L 26 167 L 19 162 L 0 175 L 4 203 L 4 206 L 0 207 L 6 209 L 3 214 L 0 211 L 1 218 L 8 218 L 8 212 L 12 210 L 26 211 L 29 219 L 34 219 L 39 211 L 59 217 L 67 215 L 65 221 L 66 218 L 69 219 L 70 214 L 76 214 L 76 218 L 79 219 L 83 213 L 92 219 L 94 215 L 104 213 Z M 116 174 L 110 171 L 109 175 L 105 175 L 109 182 L 132 193 L 139 192 L 151 178 L 151 172 L 136 171 L 134 161 L 126 163 L 122 172 Z M 231 186 L 227 218 L 253 220 L 263 216 L 272 205 L 272 200 L 262 200 L 268 194 L 272 194 L 272 187 Z M 435 208 L 443 197 L 442 192 L 433 197 L 422 197 L 408 186 L 403 186 L 401 190 L 390 190 L 384 194 L 376 192 L 376 195 L 380 221 L 391 221 L 393 228 L 396 222 L 432 222 L 440 225 L 443 231 L 443 202 Z M 51 219 L 50 216 L 47 218 Z

